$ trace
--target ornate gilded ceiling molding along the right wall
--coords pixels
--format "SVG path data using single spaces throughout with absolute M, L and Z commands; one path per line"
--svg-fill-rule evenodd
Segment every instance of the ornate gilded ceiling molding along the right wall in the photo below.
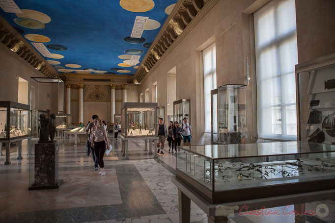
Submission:
M 141 82 L 153 72 L 218 1 L 178 0 L 140 63 L 134 75 L 135 82 Z

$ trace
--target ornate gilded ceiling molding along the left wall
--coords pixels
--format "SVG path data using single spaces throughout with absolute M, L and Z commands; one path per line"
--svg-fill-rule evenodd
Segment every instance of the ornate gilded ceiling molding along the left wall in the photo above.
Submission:
M 32 67 L 47 77 L 63 79 L 54 68 L 47 63 L 41 54 L 35 50 L 11 25 L 0 16 L 0 42 L 14 53 L 26 60 Z

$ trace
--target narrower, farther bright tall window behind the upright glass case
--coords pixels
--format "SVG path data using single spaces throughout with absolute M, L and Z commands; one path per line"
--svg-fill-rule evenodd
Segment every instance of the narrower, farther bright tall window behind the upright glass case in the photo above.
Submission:
M 211 132 L 211 90 L 216 88 L 215 43 L 202 51 L 205 132 Z

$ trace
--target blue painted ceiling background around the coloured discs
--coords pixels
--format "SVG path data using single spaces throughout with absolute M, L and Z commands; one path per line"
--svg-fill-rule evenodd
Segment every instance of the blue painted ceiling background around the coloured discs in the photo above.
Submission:
M 47 61 L 58 61 L 60 63 L 53 65 L 56 70 L 62 69 L 63 67 L 63 69 L 95 69 L 108 72 L 105 74 L 134 74 L 136 72 L 134 66 L 118 66 L 118 64 L 126 60 L 120 59 L 118 56 L 132 54 L 134 51 L 143 51 L 137 54 L 141 56 L 141 61 L 160 28 L 168 18 L 168 14 L 166 13 L 167 7 L 171 9 L 173 7 L 172 4 L 176 3 L 177 0 L 14 1 L 21 10 L 34 10 L 50 17 L 51 21 L 45 23 L 40 17 L 30 17 L 30 19 L 27 19 L 21 16 L 18 17 L 19 15 L 15 13 L 7 13 L 0 9 L 1 16 L 19 32 L 23 32 L 21 33 L 23 37 L 26 38 L 27 34 L 38 34 L 50 38 L 49 42 L 43 42 L 44 46 L 47 47 L 50 53 L 64 56 L 64 58 L 60 59 L 44 57 Z M 121 7 L 121 4 L 122 6 L 128 5 L 130 8 L 139 11 L 138 9 L 141 9 L 141 7 L 149 6 L 150 8 L 150 4 L 153 6 L 153 3 L 154 7 L 145 12 L 133 12 L 126 10 L 125 8 L 127 7 Z M 134 7 L 132 7 L 132 5 L 134 5 Z M 127 9 L 129 9 L 129 7 Z M 36 13 L 38 14 L 38 12 Z M 144 30 L 141 39 L 130 38 L 130 42 L 135 41 L 140 43 L 129 43 L 129 37 L 136 16 L 149 17 L 150 20 L 158 21 L 160 26 L 156 29 Z M 27 38 L 26 40 L 30 43 L 38 42 L 36 40 L 28 40 Z M 65 66 L 67 64 L 77 64 L 81 67 L 71 68 Z M 136 66 L 139 64 L 140 63 Z M 117 70 L 120 69 L 130 72 L 118 73 Z M 58 72 L 61 73 L 61 70 Z

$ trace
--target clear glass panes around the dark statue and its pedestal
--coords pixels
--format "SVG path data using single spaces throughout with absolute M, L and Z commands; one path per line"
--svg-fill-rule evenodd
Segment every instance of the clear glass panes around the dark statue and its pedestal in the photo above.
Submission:
M 48 77 L 31 77 L 30 78 L 30 110 L 31 126 L 33 137 L 28 152 L 29 157 L 29 188 L 35 185 L 35 180 L 40 177 L 35 174 L 35 144 L 38 143 L 39 136 L 39 122 L 42 111 L 48 111 L 48 114 L 55 114 L 55 116 L 62 116 L 63 114 L 63 98 L 64 98 L 64 83 L 59 78 Z M 50 111 L 50 113 L 49 113 Z M 46 116 L 45 118 L 49 118 Z M 61 120 L 56 118 L 56 127 L 59 126 Z M 63 141 L 59 139 L 59 134 L 56 134 L 54 142 L 56 143 L 55 151 L 55 181 L 56 184 L 63 180 Z M 37 177 L 37 178 L 36 178 Z M 38 179 L 40 180 L 40 179 Z

